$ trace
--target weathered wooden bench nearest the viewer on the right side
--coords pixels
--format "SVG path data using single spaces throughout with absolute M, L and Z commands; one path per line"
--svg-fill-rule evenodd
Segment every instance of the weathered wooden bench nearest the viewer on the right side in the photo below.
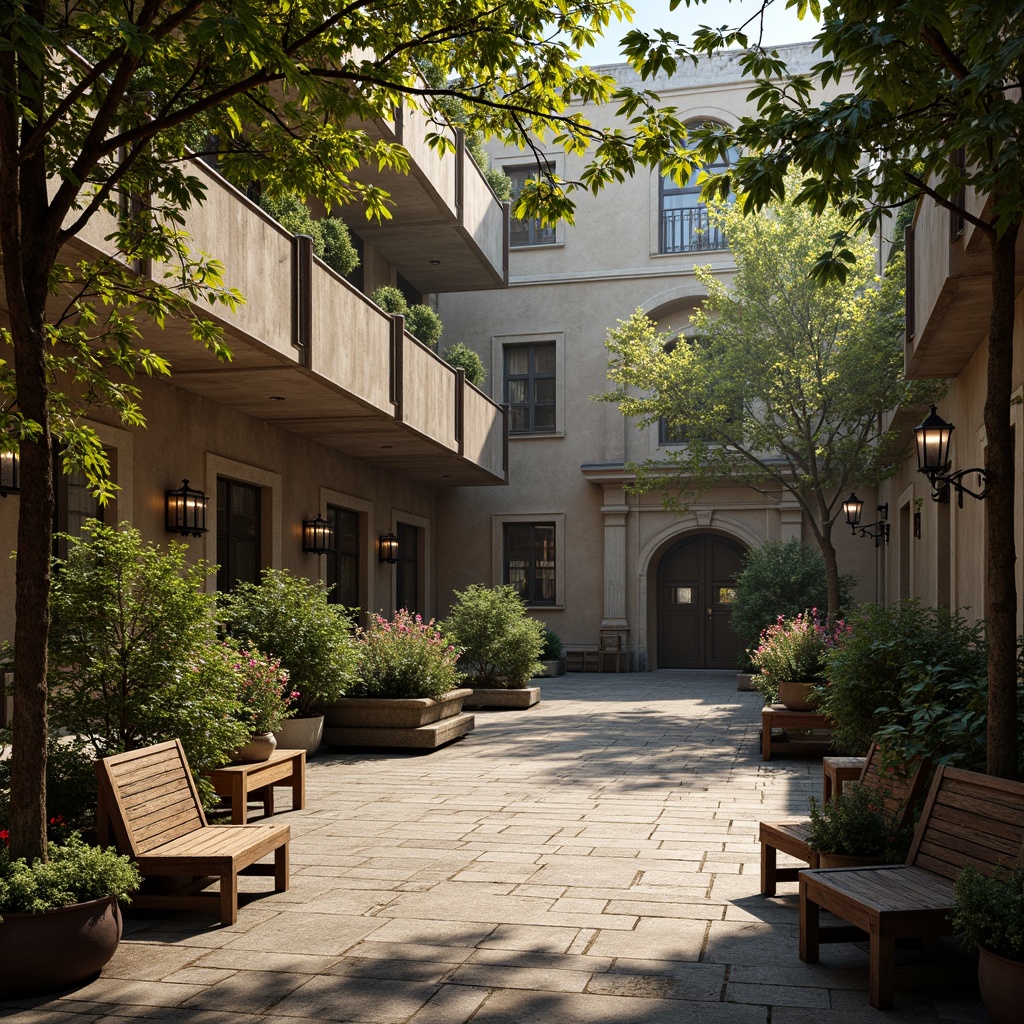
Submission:
M 866 937 L 871 1006 L 888 1009 L 896 940 L 949 935 L 963 868 L 973 864 L 992 876 L 1022 855 L 1024 783 L 940 767 L 905 863 L 800 872 L 800 958 L 816 964 L 820 943 Z M 822 928 L 821 910 L 849 926 Z

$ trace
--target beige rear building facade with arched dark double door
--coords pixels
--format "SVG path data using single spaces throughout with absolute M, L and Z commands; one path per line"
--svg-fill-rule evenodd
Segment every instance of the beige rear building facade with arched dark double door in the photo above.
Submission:
M 808 44 L 779 49 L 795 70 L 813 62 Z M 642 84 L 628 66 L 602 70 Z M 688 122 L 735 124 L 755 113 L 733 53 L 648 87 Z M 604 109 L 592 117 L 614 118 Z M 563 178 L 581 169 L 553 147 L 544 156 Z M 514 185 L 537 173 L 532 155 L 494 148 L 492 159 Z M 593 400 L 609 386 L 607 330 L 639 308 L 660 331 L 685 335 L 705 296 L 694 266 L 728 280 L 728 240 L 709 227 L 695 179 L 679 185 L 642 171 L 581 198 L 574 225 L 514 221 L 510 241 L 507 289 L 438 300 L 445 338 L 480 354 L 484 390 L 510 418 L 510 486 L 441 496 L 442 589 L 513 583 L 568 647 L 596 649 L 610 637 L 634 668 L 734 668 L 732 575 L 765 541 L 814 543 L 799 505 L 781 489 L 723 485 L 679 515 L 658 493 L 630 493 L 629 465 L 678 439 Z M 848 531 L 834 536 L 841 568 L 859 580 L 856 596 L 881 599 L 883 556 Z

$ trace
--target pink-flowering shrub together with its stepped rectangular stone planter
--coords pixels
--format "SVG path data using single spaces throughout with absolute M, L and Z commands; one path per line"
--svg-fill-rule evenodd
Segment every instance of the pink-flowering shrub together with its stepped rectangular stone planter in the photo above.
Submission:
M 326 710 L 324 736 L 339 746 L 435 750 L 471 731 L 462 714 L 472 692 L 460 689 L 459 648 L 431 618 L 406 609 L 370 616 L 356 631 L 355 680 Z

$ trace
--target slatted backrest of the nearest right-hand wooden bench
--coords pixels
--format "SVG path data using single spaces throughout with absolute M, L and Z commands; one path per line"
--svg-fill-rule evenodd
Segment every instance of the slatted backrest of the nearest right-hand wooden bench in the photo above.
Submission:
M 992 876 L 1022 854 L 1024 783 L 936 768 L 906 862 L 955 880 L 967 864 Z

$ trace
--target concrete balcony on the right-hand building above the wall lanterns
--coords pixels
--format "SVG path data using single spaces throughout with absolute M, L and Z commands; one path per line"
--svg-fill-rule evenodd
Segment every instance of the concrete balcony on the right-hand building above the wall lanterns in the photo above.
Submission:
M 986 197 L 968 195 L 968 211 L 984 215 Z M 1024 237 L 1017 243 L 1017 290 L 1024 287 Z M 906 374 L 955 377 L 988 334 L 991 253 L 970 222 L 924 199 L 907 231 Z

